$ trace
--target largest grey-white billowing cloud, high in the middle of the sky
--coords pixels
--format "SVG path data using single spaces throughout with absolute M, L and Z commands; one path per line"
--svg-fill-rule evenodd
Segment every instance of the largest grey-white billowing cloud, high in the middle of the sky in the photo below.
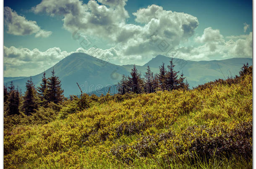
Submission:
M 63 16 L 66 30 L 71 33 L 79 30 L 84 35 L 105 38 L 114 44 L 112 49 L 118 51 L 119 57 L 126 59 L 145 59 L 162 52 L 157 45 L 163 40 L 170 47 L 175 47 L 188 40 L 199 25 L 192 15 L 167 11 L 157 5 L 133 13 L 135 20 L 144 25 L 127 24 L 126 0 L 98 2 L 89 0 L 84 4 L 79 0 L 43 0 L 32 10 Z

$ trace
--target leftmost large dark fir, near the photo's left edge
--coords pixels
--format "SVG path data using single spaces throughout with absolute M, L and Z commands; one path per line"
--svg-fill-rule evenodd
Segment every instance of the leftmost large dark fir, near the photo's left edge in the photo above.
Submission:
M 19 114 L 19 104 L 20 104 L 19 93 L 18 93 L 18 90 L 15 90 L 13 81 L 10 82 L 10 86 L 8 87 L 8 89 L 9 89 L 9 97 L 7 100 L 8 114 L 9 115 Z

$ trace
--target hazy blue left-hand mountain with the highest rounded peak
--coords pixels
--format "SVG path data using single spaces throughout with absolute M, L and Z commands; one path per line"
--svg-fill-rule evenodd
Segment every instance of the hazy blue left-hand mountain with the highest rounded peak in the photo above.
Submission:
M 51 76 L 52 68 L 47 69 L 46 76 Z M 117 84 L 122 74 L 128 72 L 121 66 L 102 61 L 85 53 L 73 53 L 54 66 L 55 75 L 61 80 L 65 96 L 80 94 L 76 82 L 85 93 L 91 93 L 110 84 Z M 32 76 L 36 86 L 39 86 L 43 73 Z M 13 81 L 25 91 L 25 83 L 30 77 Z

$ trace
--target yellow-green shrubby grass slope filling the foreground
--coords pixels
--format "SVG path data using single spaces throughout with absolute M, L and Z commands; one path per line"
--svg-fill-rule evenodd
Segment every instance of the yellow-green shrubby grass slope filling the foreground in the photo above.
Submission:
M 141 94 L 120 103 L 96 104 L 49 124 L 5 130 L 4 165 L 8 168 L 250 168 L 251 156 L 241 152 L 246 149 L 251 153 L 251 121 L 251 76 L 232 86 L 217 85 L 202 91 Z M 241 145 L 235 149 L 219 147 L 225 141 L 227 145 L 248 144 L 249 150 Z M 204 147 L 200 149 L 200 145 Z M 221 158 L 227 150 L 233 156 L 224 154 L 227 158 Z M 207 153 L 213 157 L 201 158 L 200 154 Z

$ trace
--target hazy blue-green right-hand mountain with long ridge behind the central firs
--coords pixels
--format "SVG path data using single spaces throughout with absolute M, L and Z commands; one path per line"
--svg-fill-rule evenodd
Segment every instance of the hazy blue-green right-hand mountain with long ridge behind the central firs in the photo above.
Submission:
M 171 58 L 157 55 L 151 61 L 146 63 L 144 66 L 149 65 L 154 72 L 154 68 L 159 68 L 162 62 L 167 65 L 170 64 Z M 252 65 L 251 58 L 231 58 L 225 60 L 213 60 L 213 61 L 184 61 L 182 59 L 173 59 L 175 71 L 183 71 L 184 76 L 187 77 L 190 87 L 198 86 L 209 81 L 214 81 L 218 78 L 227 78 L 228 76 L 235 76 L 239 74 L 241 67 L 244 63 Z M 155 72 L 154 72 L 155 73 Z M 158 73 L 158 70 L 157 70 Z

